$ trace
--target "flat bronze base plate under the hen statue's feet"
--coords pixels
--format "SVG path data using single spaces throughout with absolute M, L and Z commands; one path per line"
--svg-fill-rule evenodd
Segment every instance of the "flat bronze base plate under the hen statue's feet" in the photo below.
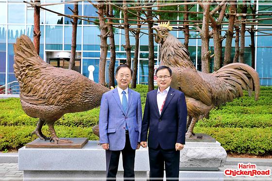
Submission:
M 58 143 L 50 142 L 49 140 L 41 140 L 40 138 L 35 139 L 34 141 L 27 143 L 26 148 L 65 148 L 65 149 L 81 149 L 88 142 L 88 138 L 79 137 L 79 138 L 60 138 L 60 139 L 69 139 L 73 143 Z

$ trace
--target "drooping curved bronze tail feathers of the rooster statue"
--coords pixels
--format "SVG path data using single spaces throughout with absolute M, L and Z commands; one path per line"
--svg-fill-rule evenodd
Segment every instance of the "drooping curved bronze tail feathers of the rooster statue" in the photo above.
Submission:
M 238 97 L 243 95 L 242 89 L 248 90 L 248 94 L 251 96 L 254 85 L 255 101 L 258 100 L 260 92 L 259 76 L 251 66 L 244 63 L 231 63 L 223 66 L 213 74 L 225 79 L 234 89 L 238 89 Z

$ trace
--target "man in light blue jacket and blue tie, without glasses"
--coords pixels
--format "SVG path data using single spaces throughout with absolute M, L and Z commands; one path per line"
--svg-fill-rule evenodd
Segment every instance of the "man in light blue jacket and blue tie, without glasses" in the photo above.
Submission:
M 128 89 L 132 78 L 129 66 L 123 64 L 117 67 L 115 78 L 117 88 L 102 95 L 99 115 L 100 144 L 106 150 L 107 179 L 116 178 L 122 152 L 124 178 L 133 180 L 135 151 L 140 147 L 141 98 L 138 92 Z

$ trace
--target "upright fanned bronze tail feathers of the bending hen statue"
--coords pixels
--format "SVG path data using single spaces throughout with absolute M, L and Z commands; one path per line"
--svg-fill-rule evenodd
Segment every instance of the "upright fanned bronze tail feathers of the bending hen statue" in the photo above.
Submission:
M 26 35 L 17 38 L 14 47 L 14 73 L 22 88 L 29 80 L 29 77 L 37 73 L 34 71 L 45 62 L 38 56 L 31 39 Z M 45 63 L 46 64 L 46 63 Z

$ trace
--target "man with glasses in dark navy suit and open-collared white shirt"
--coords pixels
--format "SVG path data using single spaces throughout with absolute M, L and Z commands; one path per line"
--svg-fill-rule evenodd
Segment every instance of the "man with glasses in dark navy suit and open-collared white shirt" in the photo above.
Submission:
M 150 178 L 178 180 L 180 150 L 185 144 L 187 106 L 184 93 L 170 88 L 172 71 L 167 66 L 156 70 L 159 88 L 147 93 L 142 122 L 141 146 L 147 146 Z M 175 178 L 175 179 L 174 179 Z

